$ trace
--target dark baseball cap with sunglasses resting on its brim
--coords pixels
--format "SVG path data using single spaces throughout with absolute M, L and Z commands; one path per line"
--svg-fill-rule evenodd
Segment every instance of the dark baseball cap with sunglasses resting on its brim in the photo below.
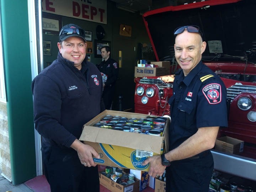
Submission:
M 68 24 L 62 27 L 59 33 L 59 40 L 64 41 L 69 37 L 81 37 L 85 42 L 85 31 L 75 24 Z

